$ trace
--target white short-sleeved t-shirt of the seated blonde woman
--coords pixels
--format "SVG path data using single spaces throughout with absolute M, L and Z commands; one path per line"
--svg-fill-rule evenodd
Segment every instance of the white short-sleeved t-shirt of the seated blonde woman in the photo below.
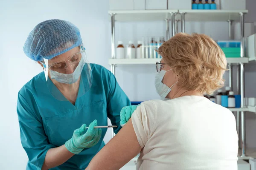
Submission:
M 205 97 L 143 102 L 131 119 L 137 170 L 237 170 L 235 117 Z

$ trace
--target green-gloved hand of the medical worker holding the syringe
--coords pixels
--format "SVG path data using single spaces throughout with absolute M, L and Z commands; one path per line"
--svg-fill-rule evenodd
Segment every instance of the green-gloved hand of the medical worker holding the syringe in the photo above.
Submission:
M 99 142 L 102 130 L 94 128 L 97 126 L 97 120 L 90 123 L 89 128 L 86 133 L 86 125 L 83 124 L 80 128 L 76 129 L 70 140 L 65 143 L 65 147 L 71 153 L 79 154 L 84 148 L 93 147 Z

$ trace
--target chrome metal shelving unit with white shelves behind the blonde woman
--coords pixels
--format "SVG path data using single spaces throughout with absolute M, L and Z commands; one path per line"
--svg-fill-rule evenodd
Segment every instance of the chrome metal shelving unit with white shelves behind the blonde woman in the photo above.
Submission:
M 237 112 L 237 130 L 238 134 L 241 128 L 241 157 L 239 159 L 253 159 L 254 157 L 246 156 L 245 153 L 245 112 L 256 112 L 255 107 L 244 106 L 244 64 L 250 61 L 256 61 L 255 58 L 245 57 L 245 43 L 244 43 L 244 14 L 248 10 L 130 10 L 130 11 L 108 11 L 111 16 L 111 59 L 109 64 L 111 65 L 111 72 L 115 75 L 115 66 L 129 65 L 129 64 L 155 64 L 160 59 L 116 59 L 115 55 L 115 21 L 128 22 L 128 21 L 146 21 L 146 20 L 163 20 L 166 23 L 166 40 L 170 38 L 169 25 L 171 21 L 171 33 L 175 34 L 175 19 L 181 20 L 182 32 L 185 32 L 185 21 L 227 21 L 229 24 L 229 37 L 231 38 L 231 24 L 233 21 L 239 21 L 241 23 L 241 57 L 240 58 L 227 58 L 230 68 L 229 72 L 229 85 L 232 89 L 232 71 L 233 65 L 239 65 L 237 76 L 239 79 L 236 83 L 239 94 L 241 94 L 241 108 L 232 108 L 230 111 Z M 241 121 L 241 127 L 240 127 Z M 253 152 L 256 153 L 256 152 Z

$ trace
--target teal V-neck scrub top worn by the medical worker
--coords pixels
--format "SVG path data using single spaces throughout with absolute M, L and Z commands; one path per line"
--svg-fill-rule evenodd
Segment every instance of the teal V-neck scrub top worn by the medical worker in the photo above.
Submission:
M 112 125 L 120 125 L 120 111 L 131 102 L 110 71 L 100 65 L 90 65 L 93 84 L 84 96 L 76 100 L 75 105 L 52 96 L 44 72 L 19 91 L 17 114 L 21 143 L 29 157 L 27 170 L 41 170 L 47 151 L 65 144 L 73 136 L 73 131 L 84 123 L 88 126 L 97 119 L 98 125 L 108 125 L 109 118 Z M 117 133 L 120 128 L 114 128 L 114 132 Z M 84 170 L 105 145 L 103 138 L 106 131 L 106 128 L 102 129 L 101 139 L 95 146 L 84 149 L 51 170 Z

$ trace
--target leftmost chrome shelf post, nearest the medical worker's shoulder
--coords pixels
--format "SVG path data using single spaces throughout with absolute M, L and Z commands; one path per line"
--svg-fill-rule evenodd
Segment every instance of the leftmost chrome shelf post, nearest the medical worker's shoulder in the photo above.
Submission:
M 115 14 L 111 14 L 111 59 L 115 59 Z M 111 64 L 111 73 L 115 75 L 115 65 Z M 115 136 L 113 128 L 111 128 L 112 138 Z

